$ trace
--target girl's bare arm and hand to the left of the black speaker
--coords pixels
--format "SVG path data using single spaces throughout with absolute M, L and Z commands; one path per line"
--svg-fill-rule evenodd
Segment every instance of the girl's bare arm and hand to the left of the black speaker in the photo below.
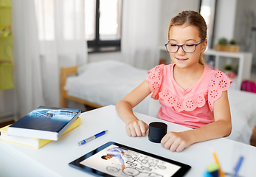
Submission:
M 151 94 L 149 83 L 147 80 L 144 80 L 136 89 L 117 102 L 117 114 L 125 122 L 125 129 L 128 136 L 146 135 L 148 125 L 134 116 L 132 108 L 144 100 L 149 94 Z

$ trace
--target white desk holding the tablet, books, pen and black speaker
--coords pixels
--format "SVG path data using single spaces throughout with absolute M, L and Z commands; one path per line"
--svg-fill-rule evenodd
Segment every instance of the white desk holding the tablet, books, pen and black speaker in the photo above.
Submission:
M 147 123 L 164 122 L 143 114 L 136 116 Z M 160 144 L 150 142 L 148 136 L 128 136 L 125 132 L 125 123 L 117 116 L 114 105 L 83 113 L 80 117 L 81 125 L 78 128 L 60 136 L 57 142 L 50 142 L 38 150 L 0 141 L 0 176 L 91 176 L 89 173 L 69 167 L 69 162 L 110 141 L 189 164 L 192 168 L 186 176 L 196 177 L 203 176 L 207 164 L 214 163 L 210 147 L 214 147 L 225 172 L 232 171 L 243 151 L 246 155 L 239 174 L 255 176 L 256 147 L 229 139 L 215 139 L 192 145 L 181 153 L 173 153 Z M 168 131 L 188 129 L 170 122 L 166 123 Z M 80 140 L 103 130 L 108 130 L 108 133 L 86 145 L 77 146 Z

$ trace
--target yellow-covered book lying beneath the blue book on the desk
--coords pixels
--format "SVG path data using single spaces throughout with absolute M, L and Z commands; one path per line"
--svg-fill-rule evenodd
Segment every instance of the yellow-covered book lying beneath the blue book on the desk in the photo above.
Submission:
M 81 124 L 81 118 L 77 117 L 77 119 L 75 119 L 72 125 L 70 125 L 69 128 L 66 129 L 66 131 L 63 134 L 68 133 L 69 131 L 72 131 L 74 128 L 77 128 L 80 124 Z M 10 125 L 0 128 L 0 132 L 1 132 L 0 140 L 3 140 L 5 142 L 13 142 L 18 145 L 25 145 L 27 147 L 33 147 L 36 149 L 39 149 L 40 147 L 47 145 L 49 142 L 52 142 L 52 140 L 49 140 L 49 139 L 35 139 L 35 138 L 7 135 L 7 127 L 9 126 Z

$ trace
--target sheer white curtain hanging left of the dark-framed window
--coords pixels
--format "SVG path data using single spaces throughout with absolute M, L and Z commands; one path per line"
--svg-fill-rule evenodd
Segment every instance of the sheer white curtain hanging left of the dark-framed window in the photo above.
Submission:
M 60 106 L 60 68 L 87 62 L 84 0 L 13 0 L 18 112 Z

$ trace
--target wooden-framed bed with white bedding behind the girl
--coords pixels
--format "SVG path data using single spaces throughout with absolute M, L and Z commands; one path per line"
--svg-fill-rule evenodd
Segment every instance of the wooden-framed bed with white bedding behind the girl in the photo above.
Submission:
M 73 100 L 93 108 L 115 105 L 147 77 L 147 71 L 118 60 L 103 60 L 63 68 L 60 73 L 61 107 Z M 228 139 L 249 145 L 256 125 L 256 94 L 229 89 L 232 133 Z M 157 117 L 159 103 L 148 96 L 134 111 Z

